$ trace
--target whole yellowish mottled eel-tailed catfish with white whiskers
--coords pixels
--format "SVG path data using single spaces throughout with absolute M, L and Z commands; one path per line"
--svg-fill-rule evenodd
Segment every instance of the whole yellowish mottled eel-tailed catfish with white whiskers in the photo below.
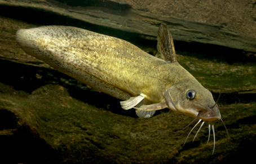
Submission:
M 135 108 L 139 117 L 169 108 L 199 119 L 202 125 L 209 121 L 209 132 L 210 125 L 214 132 L 215 119 L 222 121 L 211 92 L 177 62 L 173 38 L 164 24 L 158 29 L 157 50 L 165 60 L 122 39 L 72 26 L 20 29 L 16 40 L 29 55 L 123 100 L 121 107 Z

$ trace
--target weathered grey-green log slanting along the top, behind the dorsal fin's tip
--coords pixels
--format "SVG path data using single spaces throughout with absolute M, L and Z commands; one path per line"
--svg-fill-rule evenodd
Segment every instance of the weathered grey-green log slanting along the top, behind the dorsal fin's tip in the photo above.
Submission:
M 1 12 L 5 15 L 5 12 L 10 10 L 22 11 L 19 12 L 19 15 L 14 16 L 21 17 L 21 15 L 25 15 L 23 19 L 28 21 L 32 19 L 31 14 L 33 14 L 33 17 L 41 17 L 42 19 L 42 13 L 47 12 L 51 15 L 62 15 L 72 20 L 80 20 L 83 23 L 142 34 L 144 38 L 151 39 L 152 37 L 156 38 L 158 26 L 165 23 L 176 41 L 207 43 L 236 48 L 246 52 L 256 52 L 256 38 L 243 36 L 222 25 L 199 23 L 138 11 L 131 8 L 124 1 L 1 0 L 0 6 Z M 26 13 L 29 14 L 26 15 Z M 51 21 L 51 18 L 49 20 Z M 52 24 L 56 24 L 55 20 L 52 21 Z M 251 56 L 254 56 L 254 54 Z

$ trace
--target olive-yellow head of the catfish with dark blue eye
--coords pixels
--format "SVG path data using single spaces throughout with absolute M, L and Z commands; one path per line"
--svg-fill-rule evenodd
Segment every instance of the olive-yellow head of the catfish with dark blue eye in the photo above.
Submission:
M 195 78 L 184 79 L 165 91 L 167 106 L 176 113 L 206 121 L 221 119 L 213 95 Z

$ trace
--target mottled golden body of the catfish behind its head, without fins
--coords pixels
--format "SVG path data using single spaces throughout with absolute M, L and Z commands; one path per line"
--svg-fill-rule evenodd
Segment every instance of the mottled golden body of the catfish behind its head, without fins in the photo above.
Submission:
M 85 29 L 42 26 L 20 29 L 16 36 L 28 54 L 121 100 L 143 95 L 157 103 L 173 83 L 195 79 L 178 63 L 166 63 L 122 39 Z

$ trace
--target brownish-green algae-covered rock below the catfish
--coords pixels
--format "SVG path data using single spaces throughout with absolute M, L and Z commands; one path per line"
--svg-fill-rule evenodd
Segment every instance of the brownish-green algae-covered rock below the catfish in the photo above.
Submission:
M 194 143 L 191 135 L 182 147 L 189 130 L 179 130 L 192 118 L 169 110 L 149 119 L 136 118 L 135 114 L 125 116 L 125 113 L 116 113 L 121 107 L 96 108 L 73 98 L 67 88 L 60 85 L 42 86 L 29 95 L 1 93 L 0 107 L 15 114 L 17 128 L 26 125 L 33 134 L 61 152 L 65 162 L 190 163 L 191 159 L 218 162 L 227 159 L 227 155 L 236 157 L 243 147 L 252 147 L 256 128 L 255 103 L 240 104 L 232 111 L 223 110 L 222 118 L 230 138 L 228 141 L 225 128 L 216 121 L 215 152 L 211 155 L 213 138 L 211 134 L 206 145 L 207 126 Z M 243 150 L 245 152 L 249 153 L 249 149 Z

